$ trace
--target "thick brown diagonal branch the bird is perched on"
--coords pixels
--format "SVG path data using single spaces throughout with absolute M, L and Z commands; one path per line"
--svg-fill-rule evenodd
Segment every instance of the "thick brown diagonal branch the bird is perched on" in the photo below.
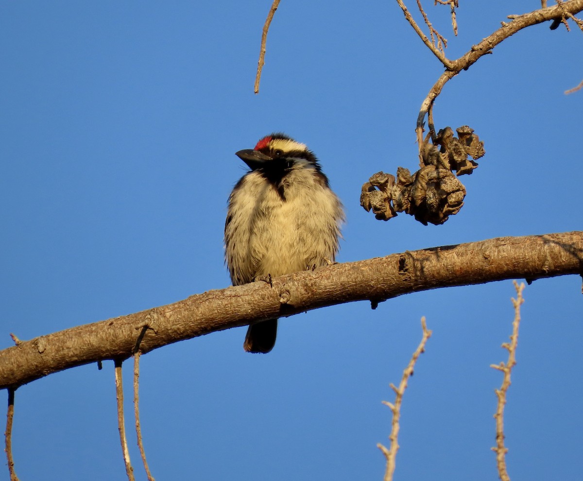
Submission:
M 314 272 L 211 290 L 167 306 L 20 342 L 0 351 L 0 388 L 47 374 L 149 352 L 250 322 L 359 300 L 373 304 L 437 287 L 583 272 L 583 231 L 501 237 L 336 264 Z

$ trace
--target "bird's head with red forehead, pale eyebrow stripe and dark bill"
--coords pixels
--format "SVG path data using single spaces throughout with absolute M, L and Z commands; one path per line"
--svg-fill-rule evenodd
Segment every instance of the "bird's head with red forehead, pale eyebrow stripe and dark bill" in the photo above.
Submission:
M 276 132 L 262 138 L 254 149 L 239 150 L 235 154 L 251 170 L 278 171 L 285 173 L 293 167 L 313 167 L 320 170 L 314 153 L 304 143 Z

